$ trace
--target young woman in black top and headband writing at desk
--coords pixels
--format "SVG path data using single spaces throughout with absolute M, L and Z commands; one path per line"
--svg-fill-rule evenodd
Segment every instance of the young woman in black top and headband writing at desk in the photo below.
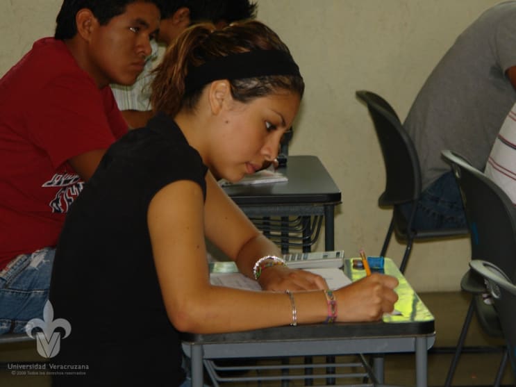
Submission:
M 167 49 L 152 85 L 156 116 L 110 147 L 60 237 L 50 299 L 72 325 L 58 361 L 88 364 L 76 383 L 180 386 L 181 331 L 392 311 L 396 279 L 327 290 L 286 267 L 213 178 L 238 181 L 273 160 L 303 89 L 288 48 L 260 22 L 194 26 Z M 205 238 L 265 291 L 210 285 Z

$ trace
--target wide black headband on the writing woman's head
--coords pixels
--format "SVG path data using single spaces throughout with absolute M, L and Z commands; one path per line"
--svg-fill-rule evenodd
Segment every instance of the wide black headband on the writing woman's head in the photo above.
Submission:
M 232 53 L 192 67 L 185 79 L 185 93 L 197 90 L 217 79 L 242 79 L 267 75 L 301 76 L 289 53 L 278 50 L 257 50 Z

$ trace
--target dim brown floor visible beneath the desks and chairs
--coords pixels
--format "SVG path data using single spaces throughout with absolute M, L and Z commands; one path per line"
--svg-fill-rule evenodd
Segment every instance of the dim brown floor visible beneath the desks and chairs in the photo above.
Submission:
M 428 354 L 428 386 L 443 386 L 452 356 L 452 354 L 446 353 L 445 349 L 456 345 L 467 306 L 469 305 L 469 298 L 467 295 L 459 292 L 422 293 L 420 297 L 435 316 L 435 331 L 437 332 L 434 347 L 438 350 L 431 350 Z M 463 354 L 453 378 L 453 386 L 492 386 L 501 359 L 501 352 L 497 350 L 501 342 L 483 335 L 478 324 L 474 321 L 469 330 L 466 345 L 492 345 L 494 352 L 488 354 Z M 0 362 L 35 361 L 38 357 L 34 344 L 30 342 L 0 347 Z M 315 361 L 317 360 L 315 359 Z M 414 368 L 414 357 L 410 354 L 391 354 L 385 356 L 385 383 L 413 386 L 415 384 Z M 324 380 L 315 381 L 314 383 L 315 386 L 320 386 L 321 384 L 324 384 Z M 48 377 L 13 376 L 10 370 L 0 370 L 0 386 L 48 387 L 50 385 Z M 294 381 L 290 384 L 292 387 L 302 385 L 301 381 Z M 508 368 L 503 376 L 502 385 L 515 385 L 515 380 Z M 260 386 L 277 387 L 279 384 L 263 383 Z M 256 387 L 256 383 L 242 384 L 241 387 Z

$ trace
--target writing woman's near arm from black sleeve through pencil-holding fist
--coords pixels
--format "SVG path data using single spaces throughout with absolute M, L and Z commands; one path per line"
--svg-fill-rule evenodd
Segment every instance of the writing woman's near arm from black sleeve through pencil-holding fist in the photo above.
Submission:
M 208 179 L 213 178 L 209 176 Z M 210 189 L 213 187 L 208 187 L 208 195 L 213 195 Z M 228 234 L 223 238 L 228 241 L 228 251 L 240 257 L 244 251 L 250 251 L 247 246 L 253 249 L 257 246 L 251 242 L 253 233 L 236 231 L 235 227 L 241 223 L 228 223 L 238 218 L 233 211 L 222 214 L 222 217 L 227 216 L 227 220 L 210 220 L 206 227 L 226 224 L 227 228 L 220 233 L 225 231 Z M 210 284 L 203 232 L 206 221 L 201 188 L 192 181 L 170 183 L 159 190 L 149 204 L 147 224 L 153 259 L 165 308 L 174 327 L 192 333 L 219 333 L 290 324 L 292 304 L 285 293 L 238 290 Z M 215 232 L 216 235 L 220 233 Z M 250 240 L 241 240 L 242 236 L 249 236 Z M 239 245 L 246 247 L 238 248 Z M 394 308 L 397 300 L 393 290 L 395 286 L 397 280 L 393 277 L 373 274 L 335 290 L 337 320 L 378 320 L 383 313 Z M 328 305 L 322 290 L 294 293 L 294 300 L 299 324 L 326 319 Z

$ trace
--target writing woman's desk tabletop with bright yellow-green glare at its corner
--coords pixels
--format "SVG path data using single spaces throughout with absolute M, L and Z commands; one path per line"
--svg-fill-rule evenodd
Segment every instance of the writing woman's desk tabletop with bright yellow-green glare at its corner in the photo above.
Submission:
M 353 258 L 344 259 L 344 272 L 356 281 L 365 276 L 365 271 L 353 268 Z M 297 327 L 274 327 L 254 331 L 226 334 L 183 334 L 185 342 L 196 344 L 242 343 L 275 340 L 331 340 L 333 338 L 367 338 L 392 336 L 431 335 L 435 331 L 434 318 L 419 296 L 406 281 L 390 258 L 385 258 L 383 272 L 397 277 L 399 300 L 395 309 L 401 315 L 385 315 L 378 322 L 339 322 L 336 324 L 303 324 Z

